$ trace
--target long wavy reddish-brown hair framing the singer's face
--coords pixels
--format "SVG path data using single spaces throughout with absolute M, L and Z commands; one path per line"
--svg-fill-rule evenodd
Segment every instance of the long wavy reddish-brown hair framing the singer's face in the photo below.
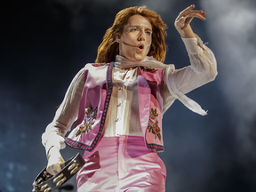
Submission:
M 124 26 L 132 15 L 139 14 L 148 19 L 152 25 L 152 43 L 148 56 L 153 56 L 156 60 L 164 62 L 166 54 L 165 29 L 167 26 L 156 12 L 148 10 L 147 6 L 135 6 L 121 10 L 116 14 L 116 18 L 111 28 L 108 28 L 103 36 L 102 43 L 98 47 L 96 63 L 111 62 L 116 59 L 119 53 L 119 44 L 116 42 L 116 36 L 123 34 Z

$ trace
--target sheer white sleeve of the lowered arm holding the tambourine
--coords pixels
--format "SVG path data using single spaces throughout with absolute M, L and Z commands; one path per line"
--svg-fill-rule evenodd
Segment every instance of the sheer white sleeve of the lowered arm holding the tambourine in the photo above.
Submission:
M 84 68 L 73 78 L 65 94 L 64 100 L 57 109 L 51 124 L 48 124 L 42 135 L 42 143 L 46 154 L 52 146 L 65 148 L 64 136 L 78 116 L 81 95 L 84 89 Z

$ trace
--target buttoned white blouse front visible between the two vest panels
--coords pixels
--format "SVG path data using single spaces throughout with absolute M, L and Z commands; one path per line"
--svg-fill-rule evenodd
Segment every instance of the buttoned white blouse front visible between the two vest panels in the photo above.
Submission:
M 137 70 L 113 68 L 113 91 L 103 137 L 143 136 L 140 128 Z

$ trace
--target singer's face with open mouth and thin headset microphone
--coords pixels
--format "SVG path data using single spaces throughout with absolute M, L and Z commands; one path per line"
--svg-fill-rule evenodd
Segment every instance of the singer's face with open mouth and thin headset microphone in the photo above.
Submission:
M 151 23 L 139 14 L 132 15 L 117 42 L 119 55 L 132 61 L 144 60 L 152 42 Z

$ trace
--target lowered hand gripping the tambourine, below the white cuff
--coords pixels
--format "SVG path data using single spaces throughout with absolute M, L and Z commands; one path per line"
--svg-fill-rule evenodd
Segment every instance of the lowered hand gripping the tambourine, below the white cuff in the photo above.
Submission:
M 60 149 L 57 147 L 52 147 L 49 149 L 48 155 L 48 164 L 46 171 L 52 175 L 56 175 L 61 171 L 60 164 L 65 163 L 63 157 L 60 155 Z

